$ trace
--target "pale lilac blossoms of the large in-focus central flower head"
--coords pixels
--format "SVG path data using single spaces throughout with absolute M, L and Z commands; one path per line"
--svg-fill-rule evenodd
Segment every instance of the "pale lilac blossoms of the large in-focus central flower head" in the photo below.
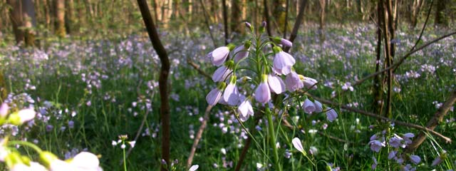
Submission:
M 251 25 L 246 24 L 246 26 Z M 284 38 L 274 38 L 274 42 L 280 43 L 282 46 L 292 46 L 292 43 Z M 207 103 L 209 105 L 221 103 L 223 105 L 237 106 L 241 121 L 245 121 L 254 115 L 251 98 L 249 98 L 250 96 L 246 98 L 239 92 L 235 73 L 238 63 L 249 58 L 250 46 L 250 41 L 246 41 L 241 46 L 228 44 L 227 46 L 215 48 L 214 51 L 207 54 L 212 64 L 218 67 L 212 75 L 212 81 L 217 83 L 217 88 L 212 89 L 206 95 Z M 261 66 L 263 73 L 259 76 L 261 79 L 253 94 L 258 103 L 268 103 L 271 100 L 271 93 L 281 94 L 286 90 L 294 92 L 304 87 L 316 89 L 317 81 L 314 78 L 299 75 L 294 71 L 293 66 L 296 60 L 293 56 L 282 51 L 279 46 L 274 46 L 272 50 L 274 51 L 272 65 L 261 63 L 261 65 L 264 65 Z M 281 78 L 281 76 L 285 76 L 285 79 Z M 318 108 L 313 109 L 312 112 L 321 113 L 323 106 L 319 102 L 316 102 L 316 105 Z M 335 113 L 332 113 L 332 111 L 329 114 Z M 337 113 L 328 118 L 332 121 L 336 117 Z

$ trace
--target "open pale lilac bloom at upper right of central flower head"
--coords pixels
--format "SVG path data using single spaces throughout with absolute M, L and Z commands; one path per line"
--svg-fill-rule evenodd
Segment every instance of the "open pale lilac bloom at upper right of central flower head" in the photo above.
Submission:
M 294 60 L 293 56 L 291 56 L 289 53 L 286 53 L 281 50 L 281 48 L 275 46 L 273 48 L 274 50 L 274 61 L 272 63 L 272 70 L 277 73 L 278 75 L 286 75 L 291 72 L 291 66 L 296 63 Z

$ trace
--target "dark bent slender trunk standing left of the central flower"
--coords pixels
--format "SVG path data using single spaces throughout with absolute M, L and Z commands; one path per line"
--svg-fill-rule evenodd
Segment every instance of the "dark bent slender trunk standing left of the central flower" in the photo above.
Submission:
M 162 120 L 162 160 L 170 163 L 170 103 L 168 94 L 167 78 L 170 73 L 170 59 L 167 56 L 165 47 L 163 47 L 160 37 L 158 36 L 155 28 L 154 21 L 150 15 L 149 6 L 147 1 L 138 0 L 138 6 L 141 11 L 142 20 L 144 21 L 147 33 L 149 34 L 152 46 L 160 58 L 160 78 L 158 80 L 158 87 L 160 89 L 160 118 Z M 167 170 L 164 165 L 161 166 L 162 171 Z

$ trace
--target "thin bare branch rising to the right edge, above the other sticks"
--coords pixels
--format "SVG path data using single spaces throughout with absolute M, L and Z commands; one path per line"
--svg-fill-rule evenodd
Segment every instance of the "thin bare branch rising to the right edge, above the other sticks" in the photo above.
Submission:
M 402 64 L 402 63 L 405 61 L 406 58 L 408 58 L 409 56 L 411 56 L 413 53 L 415 53 L 415 52 L 417 52 L 417 51 L 420 51 L 420 50 L 422 50 L 423 48 L 425 48 L 425 47 L 427 47 L 427 46 L 430 46 L 432 43 L 435 43 L 435 42 L 437 42 L 437 41 L 442 40 L 443 38 L 447 38 L 447 37 L 452 36 L 452 35 L 455 35 L 455 34 L 456 34 L 456 31 L 451 32 L 451 33 L 447 33 L 447 34 L 445 34 L 445 35 L 443 35 L 443 36 L 440 36 L 439 38 L 435 38 L 434 40 L 425 43 L 423 46 L 420 46 L 419 48 L 416 48 L 415 50 L 409 51 L 409 52 L 408 52 L 407 54 L 405 54 L 402 58 L 400 58 L 400 59 L 398 60 L 398 62 L 393 63 L 393 65 L 391 65 L 390 67 L 385 68 L 385 69 L 383 69 L 383 70 L 381 70 L 381 71 L 378 71 L 378 72 L 375 72 L 375 73 L 371 73 L 371 75 L 366 76 L 366 77 L 364 77 L 364 78 L 361 78 L 360 80 L 358 80 L 358 81 L 356 81 L 355 83 L 353 83 L 352 86 L 357 86 L 357 85 L 359 85 L 359 84 L 361 84 L 361 83 L 364 83 L 364 81 L 367 81 L 369 78 L 373 78 L 373 76 L 377 76 L 378 74 L 384 73 L 385 71 L 388 71 L 388 70 L 391 70 L 391 69 L 394 71 L 396 68 L 398 68 L 398 67 L 400 66 L 400 64 Z M 345 93 L 346 91 L 347 91 L 347 90 L 343 90 L 343 91 L 341 91 L 341 93 L 339 93 L 338 95 L 341 95 L 342 93 Z M 333 98 L 336 98 L 338 95 L 334 96 Z

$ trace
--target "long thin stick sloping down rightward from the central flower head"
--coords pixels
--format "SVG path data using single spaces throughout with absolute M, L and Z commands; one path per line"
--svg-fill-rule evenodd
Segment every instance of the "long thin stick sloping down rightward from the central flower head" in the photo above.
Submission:
M 377 115 L 375 113 L 370 113 L 370 112 L 365 111 L 365 110 L 360 110 L 360 109 L 357 109 L 357 108 L 351 108 L 351 107 L 348 107 L 346 105 L 341 105 L 339 103 L 333 102 L 331 100 L 325 100 L 323 98 L 318 98 L 318 97 L 316 97 L 314 95 L 310 95 L 309 93 L 306 93 L 306 95 L 309 95 L 312 98 L 314 98 L 315 100 L 318 100 L 319 102 L 327 104 L 327 105 L 339 106 L 340 108 L 343 108 L 345 110 L 348 110 L 348 111 L 351 111 L 351 112 L 354 112 L 354 113 L 359 113 L 359 114 L 362 114 L 362 115 L 366 115 L 366 116 L 369 116 L 371 118 L 377 118 L 377 119 L 380 119 L 380 120 L 390 121 L 391 123 L 394 123 L 395 125 L 401 125 L 401 126 L 405 126 L 405 127 L 408 127 L 408 128 L 415 128 L 417 130 L 427 131 L 429 133 L 437 135 L 437 137 L 439 137 L 439 138 L 442 138 L 443 140 L 445 140 L 445 142 L 448 142 L 448 143 L 451 142 L 450 138 L 447 138 L 444 135 L 435 132 L 435 130 L 432 130 L 430 128 L 425 128 L 425 127 L 423 127 L 421 125 L 415 125 L 415 124 L 412 124 L 412 123 L 405 123 L 405 122 L 401 122 L 401 121 L 398 121 L 398 120 L 393 120 L 393 119 L 390 119 L 390 118 L 386 118 L 386 117 Z

